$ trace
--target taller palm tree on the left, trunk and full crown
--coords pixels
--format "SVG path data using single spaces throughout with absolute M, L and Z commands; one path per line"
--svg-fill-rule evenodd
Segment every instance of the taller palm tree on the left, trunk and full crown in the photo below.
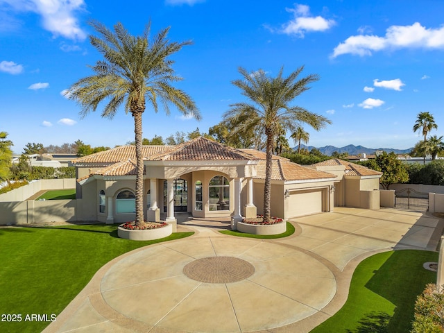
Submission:
M 182 80 L 173 70 L 169 56 L 191 42 L 170 42 L 169 28 L 150 37 L 150 24 L 139 36 L 128 33 L 122 24 L 114 25 L 114 31 L 99 22 L 91 22 L 99 37 L 89 36 L 89 42 L 103 55 L 103 60 L 92 66 L 94 74 L 81 78 L 67 92 L 70 99 L 82 107 L 85 116 L 96 111 L 99 103 L 106 101 L 102 117 L 112 118 L 123 106 L 130 112 L 135 123 L 136 176 L 136 224 L 144 224 L 144 156 L 142 155 L 142 114 L 146 102 L 154 112 L 158 102 L 169 114 L 169 104 L 185 115 L 200 119 L 194 101 L 185 92 L 171 85 Z

